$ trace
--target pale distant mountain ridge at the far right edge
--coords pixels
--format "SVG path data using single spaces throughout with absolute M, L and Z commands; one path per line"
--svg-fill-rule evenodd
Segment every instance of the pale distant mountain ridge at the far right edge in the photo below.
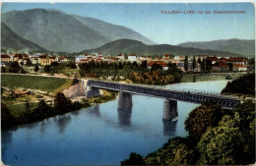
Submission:
M 185 42 L 178 44 L 178 46 L 227 51 L 248 57 L 255 56 L 255 40 L 232 38 L 213 41 Z

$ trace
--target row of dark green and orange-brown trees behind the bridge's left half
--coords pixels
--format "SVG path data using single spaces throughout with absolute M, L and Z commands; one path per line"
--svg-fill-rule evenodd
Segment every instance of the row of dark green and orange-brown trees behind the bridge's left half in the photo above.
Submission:
M 81 76 L 86 77 L 87 74 L 96 74 L 96 77 L 106 79 L 112 76 L 112 80 L 127 80 L 132 83 L 146 84 L 166 84 L 179 83 L 182 78 L 182 71 L 176 64 L 167 64 L 168 69 L 164 71 L 160 64 L 153 64 L 152 68 L 148 68 L 148 62 L 142 61 L 141 64 L 134 62 L 95 62 L 80 64 Z

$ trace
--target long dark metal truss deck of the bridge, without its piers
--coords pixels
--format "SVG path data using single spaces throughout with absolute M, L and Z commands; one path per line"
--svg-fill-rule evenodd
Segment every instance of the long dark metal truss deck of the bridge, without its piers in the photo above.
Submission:
M 210 93 L 195 93 L 195 92 L 184 92 L 179 90 L 172 90 L 172 89 L 165 89 L 147 85 L 138 85 L 138 84 L 126 84 L 126 83 L 111 83 L 111 82 L 102 82 L 102 81 L 94 81 L 89 80 L 88 85 L 104 88 L 104 89 L 111 89 L 117 91 L 125 91 L 134 94 L 141 94 L 147 96 L 154 96 L 172 100 L 180 100 L 186 102 L 193 102 L 193 103 L 202 103 L 205 101 L 214 101 L 225 108 L 233 108 L 240 100 L 235 97 L 230 97 L 221 94 L 210 94 Z

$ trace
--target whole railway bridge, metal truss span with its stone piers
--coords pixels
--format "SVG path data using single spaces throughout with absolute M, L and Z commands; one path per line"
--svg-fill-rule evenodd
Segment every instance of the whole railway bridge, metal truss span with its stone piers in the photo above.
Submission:
M 178 116 L 177 100 L 197 104 L 206 101 L 214 101 L 224 108 L 229 109 L 234 108 L 240 103 L 238 98 L 221 94 L 179 91 L 141 84 L 112 83 L 95 80 L 82 80 L 82 83 L 84 84 L 84 90 L 87 97 L 100 95 L 100 88 L 119 91 L 118 109 L 121 110 L 125 110 L 132 106 L 132 94 L 163 98 L 165 99 L 163 103 L 163 120 L 172 120 Z

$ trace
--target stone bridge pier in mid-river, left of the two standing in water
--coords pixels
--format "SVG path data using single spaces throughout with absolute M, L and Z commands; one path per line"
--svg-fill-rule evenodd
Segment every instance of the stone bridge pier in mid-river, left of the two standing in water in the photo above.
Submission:
M 126 110 L 133 106 L 132 94 L 129 92 L 120 91 L 118 95 L 118 106 L 119 110 Z

